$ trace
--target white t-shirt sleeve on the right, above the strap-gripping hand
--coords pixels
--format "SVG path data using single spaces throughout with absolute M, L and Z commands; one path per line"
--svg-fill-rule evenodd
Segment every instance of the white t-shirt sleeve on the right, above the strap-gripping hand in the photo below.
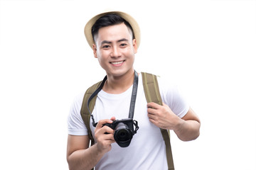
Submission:
M 159 82 L 159 91 L 162 101 L 171 108 L 179 118 L 183 118 L 188 113 L 189 105 L 186 99 L 181 94 L 176 84 L 164 81 L 162 78 L 157 78 Z

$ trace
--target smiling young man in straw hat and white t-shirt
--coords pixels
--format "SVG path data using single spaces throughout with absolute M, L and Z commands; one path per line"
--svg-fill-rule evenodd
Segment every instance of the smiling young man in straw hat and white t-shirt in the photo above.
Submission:
M 200 120 L 175 86 L 160 78 L 163 106 L 147 103 L 139 74 L 134 120 L 139 124 L 129 147 L 119 147 L 114 130 L 104 125 L 128 118 L 134 83 L 134 55 L 139 47 L 139 26 L 127 13 L 101 13 L 88 21 L 85 36 L 107 81 L 97 94 L 90 128 L 95 145 L 89 147 L 87 128 L 80 115 L 84 94 L 75 98 L 68 118 L 67 160 L 70 169 L 168 169 L 166 147 L 159 128 L 174 130 L 183 141 L 199 136 Z

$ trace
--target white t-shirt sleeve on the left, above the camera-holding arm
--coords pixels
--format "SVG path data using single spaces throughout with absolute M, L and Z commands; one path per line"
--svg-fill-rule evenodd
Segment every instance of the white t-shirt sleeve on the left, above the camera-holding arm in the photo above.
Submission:
M 85 123 L 80 115 L 82 99 L 84 94 L 75 97 L 68 115 L 68 134 L 69 135 L 88 135 Z

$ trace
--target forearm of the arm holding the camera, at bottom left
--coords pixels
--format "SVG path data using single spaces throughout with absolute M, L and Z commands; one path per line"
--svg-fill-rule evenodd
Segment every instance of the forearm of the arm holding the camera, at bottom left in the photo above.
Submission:
M 98 151 L 96 145 L 93 145 L 87 149 L 80 149 L 70 154 L 68 165 L 70 170 L 92 169 L 103 155 L 103 153 Z

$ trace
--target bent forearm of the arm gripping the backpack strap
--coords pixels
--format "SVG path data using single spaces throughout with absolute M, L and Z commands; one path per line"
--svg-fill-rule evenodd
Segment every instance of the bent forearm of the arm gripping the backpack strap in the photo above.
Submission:
M 200 135 L 200 122 L 196 120 L 180 120 L 174 132 L 180 140 L 190 141 L 196 140 Z

